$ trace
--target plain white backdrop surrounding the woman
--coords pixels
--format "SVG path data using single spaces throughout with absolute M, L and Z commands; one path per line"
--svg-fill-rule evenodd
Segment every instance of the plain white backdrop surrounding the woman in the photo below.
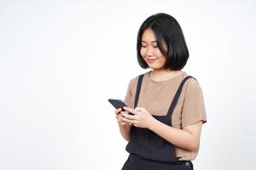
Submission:
M 252 169 L 256 3 L 0 0 L 0 169 L 121 169 L 128 153 L 108 98 L 124 99 L 149 15 L 177 19 L 208 122 L 197 170 Z

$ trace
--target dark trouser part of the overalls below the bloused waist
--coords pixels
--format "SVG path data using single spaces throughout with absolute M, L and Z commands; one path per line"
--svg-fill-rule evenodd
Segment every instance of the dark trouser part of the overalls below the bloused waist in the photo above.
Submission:
M 150 161 L 130 154 L 122 170 L 193 170 L 193 164 L 191 161 L 177 163 Z

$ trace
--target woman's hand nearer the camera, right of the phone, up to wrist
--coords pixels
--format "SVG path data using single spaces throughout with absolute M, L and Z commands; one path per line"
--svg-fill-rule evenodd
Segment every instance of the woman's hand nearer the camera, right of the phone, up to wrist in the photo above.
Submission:
M 135 127 L 149 128 L 154 121 L 152 116 L 145 108 L 137 107 L 134 109 L 124 107 L 125 111 L 129 111 L 134 115 L 124 113 L 122 119 L 124 122 L 132 123 Z

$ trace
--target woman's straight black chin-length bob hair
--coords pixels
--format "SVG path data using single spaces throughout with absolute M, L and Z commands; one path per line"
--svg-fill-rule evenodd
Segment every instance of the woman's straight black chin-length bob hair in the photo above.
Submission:
M 137 34 L 137 60 L 143 69 L 148 68 L 148 64 L 141 55 L 142 37 L 146 29 L 154 31 L 157 46 L 161 54 L 166 56 L 165 70 L 178 71 L 183 69 L 189 59 L 189 50 L 183 36 L 183 31 L 177 20 L 171 15 L 158 13 L 144 20 Z M 164 48 L 166 44 L 167 51 Z

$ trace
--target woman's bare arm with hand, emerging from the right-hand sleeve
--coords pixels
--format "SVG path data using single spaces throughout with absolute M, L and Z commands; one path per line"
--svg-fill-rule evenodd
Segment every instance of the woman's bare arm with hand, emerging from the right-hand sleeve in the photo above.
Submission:
M 134 116 L 124 113 L 124 117 L 121 118 L 124 122 L 132 123 L 136 127 L 148 128 L 177 147 L 195 150 L 199 144 L 202 121 L 177 129 L 159 122 L 144 108 L 133 110 L 125 107 L 125 110 L 130 111 Z

